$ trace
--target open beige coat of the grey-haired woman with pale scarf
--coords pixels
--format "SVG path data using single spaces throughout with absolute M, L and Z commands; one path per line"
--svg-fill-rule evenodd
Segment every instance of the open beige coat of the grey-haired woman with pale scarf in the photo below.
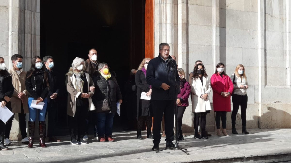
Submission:
M 87 81 L 89 81 L 88 82 L 88 90 L 89 90 L 90 86 L 94 86 L 94 82 L 88 73 L 84 73 L 84 74 L 86 75 Z M 76 113 L 76 105 L 77 105 L 76 100 L 77 100 L 77 97 L 81 94 L 81 92 L 78 92 L 76 89 L 75 76 L 73 75 L 72 69 L 70 69 L 70 71 L 66 75 L 67 75 L 66 88 L 67 88 L 67 91 L 69 93 L 67 114 L 70 115 L 71 117 L 74 117 L 75 113 Z M 92 102 L 91 97 L 94 95 L 94 92 L 90 92 L 90 90 L 89 90 L 88 93 L 91 95 L 88 98 L 88 101 L 89 101 L 88 110 L 93 111 L 93 110 L 95 110 L 95 106 Z

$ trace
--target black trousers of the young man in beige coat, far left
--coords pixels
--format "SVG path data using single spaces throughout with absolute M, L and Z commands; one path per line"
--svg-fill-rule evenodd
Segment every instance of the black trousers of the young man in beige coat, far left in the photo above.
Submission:
M 27 133 L 26 133 L 26 114 L 24 114 L 24 110 L 23 110 L 23 106 L 22 106 L 22 103 L 21 103 L 21 111 L 20 113 L 18 113 L 18 117 L 19 117 L 19 128 L 20 128 L 20 133 L 21 133 L 21 136 L 22 136 L 22 139 L 26 138 L 27 137 Z M 14 115 L 8 119 L 8 121 L 6 122 L 5 124 L 5 139 L 9 139 L 10 137 L 10 131 L 11 131 L 11 127 L 12 127 L 12 121 L 14 119 Z

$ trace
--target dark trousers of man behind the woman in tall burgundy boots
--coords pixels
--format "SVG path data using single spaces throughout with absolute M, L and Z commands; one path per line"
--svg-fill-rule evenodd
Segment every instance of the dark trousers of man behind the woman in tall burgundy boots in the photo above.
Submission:
M 57 106 L 53 100 L 50 100 L 47 102 L 47 137 L 56 136 L 56 121 Z

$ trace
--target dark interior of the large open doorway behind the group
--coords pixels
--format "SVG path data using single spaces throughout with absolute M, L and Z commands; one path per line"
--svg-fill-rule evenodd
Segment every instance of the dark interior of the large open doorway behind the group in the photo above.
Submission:
M 54 57 L 61 84 L 58 130 L 68 127 L 65 73 L 75 57 L 86 60 L 88 50 L 95 48 L 98 61 L 116 73 L 123 92 L 130 70 L 145 56 L 144 9 L 145 0 L 40 1 L 40 57 Z M 123 120 L 116 115 L 113 129 L 120 129 Z

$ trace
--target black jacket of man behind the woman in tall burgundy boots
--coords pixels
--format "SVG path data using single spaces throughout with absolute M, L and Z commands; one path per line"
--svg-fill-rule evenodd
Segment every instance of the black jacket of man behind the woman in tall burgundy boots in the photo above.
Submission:
M 47 94 L 47 102 L 50 102 L 52 99 L 50 96 L 53 93 L 59 93 L 59 84 L 57 82 L 56 72 L 54 70 L 49 71 L 45 68 L 45 72 L 47 73 L 47 78 L 49 80 L 49 93 Z

